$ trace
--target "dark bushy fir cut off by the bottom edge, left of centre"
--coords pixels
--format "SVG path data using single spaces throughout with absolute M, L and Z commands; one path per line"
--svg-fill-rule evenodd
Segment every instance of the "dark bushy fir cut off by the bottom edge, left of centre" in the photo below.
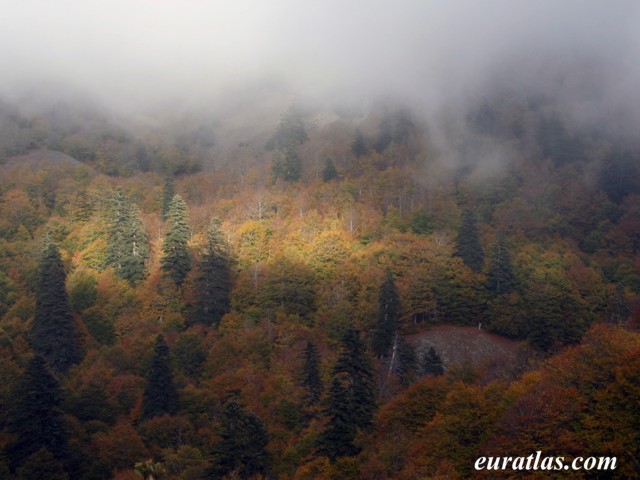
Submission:
M 213 465 L 208 478 L 235 474 L 239 478 L 266 475 L 270 455 L 266 450 L 269 437 L 262 421 L 235 400 L 222 410 L 220 440 L 213 451 Z

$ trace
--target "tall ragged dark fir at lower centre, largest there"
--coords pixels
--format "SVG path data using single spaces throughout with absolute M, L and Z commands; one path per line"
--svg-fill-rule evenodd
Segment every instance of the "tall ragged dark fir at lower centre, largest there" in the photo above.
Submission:
M 353 441 L 359 430 L 369 430 L 376 410 L 373 369 L 357 330 L 347 330 L 332 374 L 318 453 L 335 459 L 357 453 Z

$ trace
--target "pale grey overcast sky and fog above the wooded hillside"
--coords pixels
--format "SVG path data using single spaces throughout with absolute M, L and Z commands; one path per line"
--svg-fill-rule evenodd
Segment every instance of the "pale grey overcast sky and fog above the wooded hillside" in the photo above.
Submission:
M 606 58 L 634 89 L 637 0 L 0 0 L 0 91 L 70 85 L 115 105 L 399 93 L 437 103 L 531 54 Z M 535 72 L 532 73 L 535 76 Z

